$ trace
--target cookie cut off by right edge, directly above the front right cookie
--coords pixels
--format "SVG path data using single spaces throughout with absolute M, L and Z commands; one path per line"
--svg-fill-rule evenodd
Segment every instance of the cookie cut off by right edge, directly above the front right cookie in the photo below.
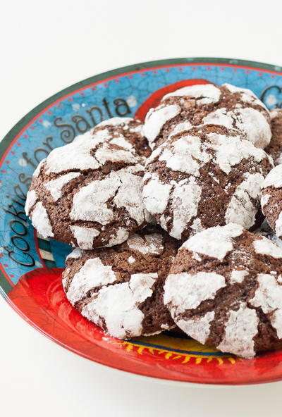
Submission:
M 277 237 L 282 237 L 282 164 L 274 167 L 262 183 L 262 212 Z

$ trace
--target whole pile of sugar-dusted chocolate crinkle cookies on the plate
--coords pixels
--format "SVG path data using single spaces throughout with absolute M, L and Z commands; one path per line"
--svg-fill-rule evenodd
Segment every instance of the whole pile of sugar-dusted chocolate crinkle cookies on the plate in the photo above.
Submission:
M 282 110 L 248 89 L 193 85 L 144 124 L 111 118 L 51 151 L 25 211 L 75 248 L 66 297 L 106 333 L 177 325 L 251 358 L 282 340 L 280 163 Z

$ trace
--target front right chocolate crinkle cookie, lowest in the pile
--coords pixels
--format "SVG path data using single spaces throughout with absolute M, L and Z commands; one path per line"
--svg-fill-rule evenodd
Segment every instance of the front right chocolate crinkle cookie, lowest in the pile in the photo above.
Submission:
M 282 338 L 282 249 L 230 223 L 188 239 L 164 286 L 176 324 L 245 358 Z

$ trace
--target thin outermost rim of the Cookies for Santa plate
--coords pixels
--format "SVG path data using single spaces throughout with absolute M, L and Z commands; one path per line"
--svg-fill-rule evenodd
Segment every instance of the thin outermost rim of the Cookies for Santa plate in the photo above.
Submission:
M 59 92 L 56 92 L 55 94 L 51 95 L 41 103 L 39 103 L 37 106 L 33 107 L 28 113 L 23 116 L 18 122 L 11 127 L 11 130 L 8 131 L 8 133 L 4 136 L 4 138 L 0 142 L 0 159 L 4 158 L 6 152 L 8 151 L 11 142 L 13 139 L 18 135 L 18 133 L 23 129 L 23 127 L 26 127 L 28 123 L 32 122 L 32 119 L 39 116 L 39 113 L 41 111 L 46 111 L 48 106 L 53 106 L 57 101 L 60 101 L 60 99 L 68 97 L 68 95 L 73 94 L 76 91 L 79 91 L 80 89 L 84 89 L 86 86 L 91 86 L 92 84 L 96 84 L 99 81 L 104 80 L 110 80 L 111 78 L 116 77 L 117 75 L 127 75 L 128 73 L 133 72 L 140 72 L 142 70 L 146 70 L 148 68 L 157 69 L 157 68 L 163 68 L 165 66 L 179 66 L 181 64 L 211 64 L 213 66 L 236 66 L 238 68 L 248 68 L 248 69 L 255 69 L 255 70 L 264 70 L 264 72 L 271 72 L 271 73 L 277 73 L 278 75 L 282 75 L 282 66 L 276 66 L 269 63 L 262 63 L 259 61 L 249 61 L 249 60 L 243 60 L 243 59 L 236 59 L 236 58 L 218 58 L 218 57 L 192 57 L 192 58 L 165 58 L 161 60 L 156 61 L 145 61 L 142 63 L 134 63 L 128 66 L 123 66 L 119 68 L 114 68 L 112 70 L 105 71 L 103 73 L 99 73 L 97 75 L 93 75 L 91 77 L 87 77 L 84 80 L 80 80 L 78 82 L 75 82 L 74 84 L 61 89 Z M 0 271 L 1 273 L 1 271 Z M 80 356 L 84 357 L 85 359 L 89 359 L 83 354 L 80 354 L 80 352 L 76 351 L 75 349 L 72 349 L 71 347 L 66 346 L 60 340 L 51 337 L 47 335 L 46 332 L 44 332 L 42 329 L 40 329 L 35 323 L 32 322 L 27 316 L 25 316 L 25 313 L 17 309 L 16 305 L 13 304 L 13 301 L 11 301 L 8 297 L 8 294 L 6 294 L 5 290 L 0 287 L 0 294 L 4 298 L 4 300 L 12 307 L 16 313 L 20 317 L 22 317 L 25 322 L 32 325 L 32 328 L 35 328 L 35 330 L 39 331 L 42 335 L 45 337 L 48 337 L 49 340 L 56 342 L 56 344 L 59 344 L 59 346 L 64 347 L 68 349 L 69 351 L 79 354 Z M 222 384 L 207 384 L 207 383 L 201 383 L 201 382 L 189 382 L 189 381 L 180 381 L 180 380 L 173 380 L 170 378 L 158 378 L 151 375 L 144 375 L 141 373 L 136 373 L 134 371 L 128 371 L 123 368 L 113 367 L 109 366 L 106 363 L 102 363 L 102 361 L 94 361 L 95 363 L 99 363 L 100 365 L 107 366 L 111 369 L 116 369 L 117 371 L 125 372 L 128 375 L 136 375 L 138 377 L 149 378 L 149 380 L 154 380 L 157 382 L 162 382 L 166 384 L 183 384 L 188 385 L 189 387 L 241 387 L 245 385 L 258 385 L 258 384 L 264 384 L 269 382 L 278 382 L 279 380 L 282 380 L 281 378 L 275 378 L 272 380 L 259 380 L 258 382 L 250 382 L 250 383 L 222 383 Z

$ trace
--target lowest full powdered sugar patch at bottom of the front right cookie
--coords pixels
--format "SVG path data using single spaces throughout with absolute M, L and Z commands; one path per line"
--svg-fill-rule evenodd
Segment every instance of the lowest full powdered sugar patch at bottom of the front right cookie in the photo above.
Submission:
M 223 352 L 252 358 L 255 356 L 254 337 L 258 332 L 258 324 L 256 311 L 241 303 L 237 311 L 229 312 L 225 334 L 217 348 Z

